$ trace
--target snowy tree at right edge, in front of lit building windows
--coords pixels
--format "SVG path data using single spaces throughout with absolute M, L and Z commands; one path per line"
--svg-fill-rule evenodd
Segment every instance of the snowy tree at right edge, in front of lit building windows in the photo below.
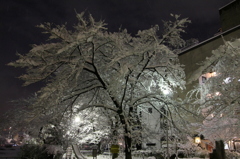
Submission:
M 201 133 L 205 137 L 229 141 L 238 136 L 240 113 L 240 39 L 224 41 L 212 56 L 196 70 L 205 82 L 193 92 L 199 94 L 195 104 L 205 120 Z

